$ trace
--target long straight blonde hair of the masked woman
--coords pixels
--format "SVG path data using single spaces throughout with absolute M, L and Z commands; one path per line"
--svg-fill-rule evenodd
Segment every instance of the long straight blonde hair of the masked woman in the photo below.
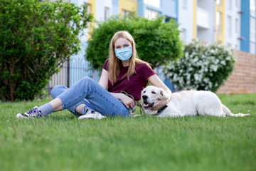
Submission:
M 134 42 L 134 38 L 130 33 L 127 31 L 117 31 L 112 37 L 110 41 L 110 48 L 109 48 L 109 61 L 107 64 L 108 72 L 109 72 L 109 79 L 112 85 L 117 81 L 117 78 L 120 73 L 120 65 L 122 65 L 122 61 L 115 56 L 114 53 L 114 43 L 117 41 L 118 38 L 125 38 L 132 44 L 132 56 L 129 58 L 129 68 L 126 73 L 127 78 L 129 79 L 135 73 L 135 67 L 139 63 L 146 63 L 139 59 L 137 51 L 136 51 L 136 43 Z M 149 63 L 146 63 L 149 66 Z M 150 66 L 149 66 L 150 67 Z

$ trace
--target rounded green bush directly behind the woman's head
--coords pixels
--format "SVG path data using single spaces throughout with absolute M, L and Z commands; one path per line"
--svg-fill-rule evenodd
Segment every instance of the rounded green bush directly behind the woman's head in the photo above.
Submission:
M 182 42 L 179 38 L 178 25 L 175 21 L 163 23 L 164 16 L 155 20 L 144 19 L 134 14 L 130 16 L 112 16 L 98 24 L 87 41 L 85 58 L 92 63 L 92 68 L 102 69 L 108 58 L 109 43 L 117 31 L 126 30 L 137 43 L 139 58 L 153 67 L 172 61 L 182 56 Z

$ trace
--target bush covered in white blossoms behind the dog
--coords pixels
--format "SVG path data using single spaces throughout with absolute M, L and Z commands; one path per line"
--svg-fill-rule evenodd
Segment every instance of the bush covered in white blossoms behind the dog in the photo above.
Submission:
M 217 43 L 193 41 L 184 48 L 184 56 L 164 66 L 165 75 L 178 90 L 215 92 L 233 71 L 235 59 L 230 48 Z

